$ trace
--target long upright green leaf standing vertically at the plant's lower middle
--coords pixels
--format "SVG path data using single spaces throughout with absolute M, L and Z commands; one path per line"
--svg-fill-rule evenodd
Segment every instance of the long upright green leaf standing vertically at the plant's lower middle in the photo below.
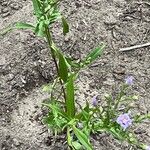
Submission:
M 75 74 L 71 74 L 66 84 L 66 108 L 67 114 L 70 117 L 74 117 L 75 115 L 74 76 Z

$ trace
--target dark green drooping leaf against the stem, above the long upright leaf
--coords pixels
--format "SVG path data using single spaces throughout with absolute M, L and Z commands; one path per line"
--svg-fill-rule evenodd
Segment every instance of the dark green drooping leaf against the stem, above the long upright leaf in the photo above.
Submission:
M 59 52 L 59 76 L 64 81 L 64 83 L 67 82 L 68 79 L 68 66 L 67 61 L 63 54 Z

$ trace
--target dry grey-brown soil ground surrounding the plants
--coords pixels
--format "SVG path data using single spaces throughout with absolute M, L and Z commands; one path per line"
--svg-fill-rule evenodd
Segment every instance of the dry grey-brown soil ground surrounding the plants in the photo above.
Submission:
M 78 80 L 78 99 L 90 100 L 98 94 L 118 89 L 127 75 L 133 75 L 133 92 L 139 95 L 138 112 L 150 107 L 150 47 L 119 52 L 122 47 L 150 41 L 149 0 L 63 0 L 61 11 L 70 24 L 63 37 L 55 25 L 55 41 L 74 58 L 85 56 L 100 42 L 107 43 L 104 54 Z M 0 29 L 17 22 L 34 22 L 30 0 L 0 0 Z M 54 78 L 46 44 L 30 31 L 15 30 L 0 37 L 0 149 L 66 149 L 64 135 L 55 139 L 42 125 L 41 102 L 48 97 L 41 86 Z M 150 144 L 150 123 L 135 127 L 137 137 Z M 133 150 L 109 135 L 94 135 L 95 150 Z M 136 148 L 135 148 L 136 149 Z

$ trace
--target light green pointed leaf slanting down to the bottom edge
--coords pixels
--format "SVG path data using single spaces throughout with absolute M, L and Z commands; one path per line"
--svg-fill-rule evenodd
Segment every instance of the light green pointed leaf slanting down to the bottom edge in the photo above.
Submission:
M 89 142 L 88 137 L 78 128 L 76 128 L 75 126 L 72 126 L 72 129 L 76 135 L 76 137 L 78 138 L 78 140 L 81 142 L 81 144 L 87 149 L 87 150 L 92 150 L 92 145 Z

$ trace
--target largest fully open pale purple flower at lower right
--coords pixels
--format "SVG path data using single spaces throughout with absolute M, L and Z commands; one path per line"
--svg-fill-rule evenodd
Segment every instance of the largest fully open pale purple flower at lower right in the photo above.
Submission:
M 120 124 L 124 130 L 126 130 L 126 128 L 128 128 L 132 124 L 132 120 L 130 119 L 129 114 L 125 113 L 121 114 L 117 118 L 117 123 Z

